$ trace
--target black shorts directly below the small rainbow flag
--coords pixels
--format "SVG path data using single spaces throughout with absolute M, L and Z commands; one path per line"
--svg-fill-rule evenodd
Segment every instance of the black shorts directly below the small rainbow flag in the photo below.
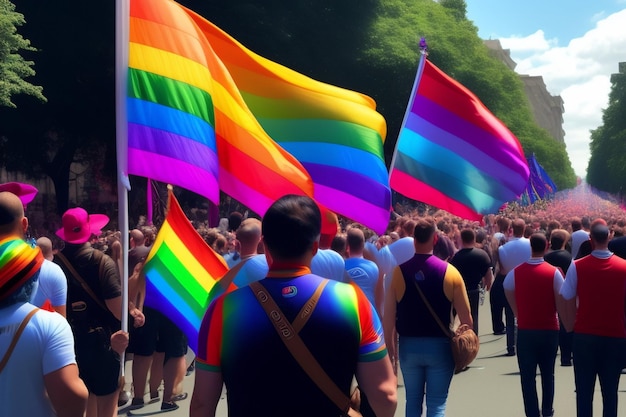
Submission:
M 143 314 L 146 318 L 145 324 L 130 331 L 129 352 L 140 356 L 163 352 L 166 360 L 187 354 L 187 337 L 178 326 L 150 307 L 144 307 Z

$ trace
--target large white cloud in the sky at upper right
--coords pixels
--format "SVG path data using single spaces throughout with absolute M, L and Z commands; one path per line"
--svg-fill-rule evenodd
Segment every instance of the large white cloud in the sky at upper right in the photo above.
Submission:
M 598 16 L 599 17 L 599 16 Z M 582 37 L 559 46 L 539 30 L 525 38 L 500 39 L 511 50 L 520 74 L 541 75 L 548 91 L 561 95 L 565 143 L 577 175 L 585 176 L 589 161 L 589 131 L 602 123 L 610 77 L 626 61 L 626 9 L 598 20 Z

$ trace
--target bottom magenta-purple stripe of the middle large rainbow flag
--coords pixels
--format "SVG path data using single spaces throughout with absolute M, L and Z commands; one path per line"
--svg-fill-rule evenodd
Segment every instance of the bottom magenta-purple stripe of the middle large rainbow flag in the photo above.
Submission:
M 385 233 L 389 225 L 391 206 L 377 207 L 351 194 L 321 184 L 315 184 L 315 199 L 329 210 L 359 222 L 378 234 Z

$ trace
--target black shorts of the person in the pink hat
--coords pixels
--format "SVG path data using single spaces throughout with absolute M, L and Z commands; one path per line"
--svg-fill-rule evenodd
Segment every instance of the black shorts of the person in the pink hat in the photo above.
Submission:
M 111 349 L 111 333 L 98 327 L 74 335 L 76 363 L 80 378 L 90 393 L 104 396 L 114 393 L 120 382 L 120 356 Z

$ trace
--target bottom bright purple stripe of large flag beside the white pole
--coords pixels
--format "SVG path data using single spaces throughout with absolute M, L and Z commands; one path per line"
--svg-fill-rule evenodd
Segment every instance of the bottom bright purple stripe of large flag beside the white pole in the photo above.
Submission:
M 215 174 L 186 161 L 128 149 L 128 173 L 185 188 L 219 203 L 219 186 Z

